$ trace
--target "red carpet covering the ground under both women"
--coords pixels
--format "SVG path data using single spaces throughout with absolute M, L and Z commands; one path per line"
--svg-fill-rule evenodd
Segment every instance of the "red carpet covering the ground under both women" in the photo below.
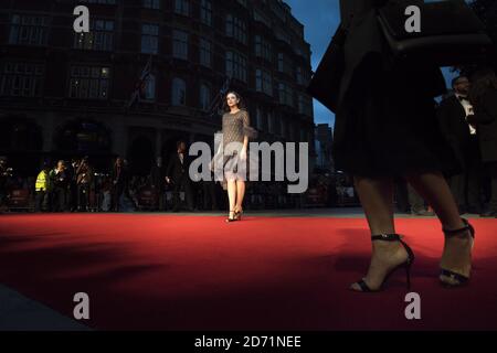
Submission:
M 496 330 L 497 221 L 477 229 L 472 284 L 436 279 L 436 220 L 398 220 L 416 255 L 421 320 L 403 272 L 381 293 L 347 290 L 369 263 L 364 220 L 154 214 L 0 216 L 0 284 L 72 317 L 87 292 L 101 330 Z

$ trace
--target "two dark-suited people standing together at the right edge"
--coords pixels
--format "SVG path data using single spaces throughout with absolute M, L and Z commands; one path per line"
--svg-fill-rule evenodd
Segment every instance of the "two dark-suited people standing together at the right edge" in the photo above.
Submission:
M 453 79 L 437 109 L 441 130 L 463 169 L 447 178 L 459 212 L 497 216 L 497 78 L 491 69 Z

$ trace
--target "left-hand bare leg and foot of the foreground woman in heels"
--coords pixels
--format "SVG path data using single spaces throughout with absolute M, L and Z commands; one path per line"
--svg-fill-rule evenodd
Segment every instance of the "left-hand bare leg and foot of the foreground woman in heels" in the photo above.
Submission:
M 356 190 L 364 210 L 371 235 L 394 234 L 393 181 L 391 179 L 355 178 Z M 387 274 L 408 259 L 400 242 L 371 242 L 372 255 L 368 274 L 363 278 L 372 290 L 379 289 Z M 358 284 L 351 289 L 360 291 Z

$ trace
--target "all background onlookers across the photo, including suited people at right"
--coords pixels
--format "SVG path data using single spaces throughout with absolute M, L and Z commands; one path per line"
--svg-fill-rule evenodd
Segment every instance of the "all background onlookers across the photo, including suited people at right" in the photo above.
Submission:
M 463 165 L 458 173 L 447 175 L 459 213 L 494 217 L 497 216 L 497 79 L 493 71 L 486 71 L 473 82 L 472 85 L 466 76 L 453 79 L 454 94 L 438 105 L 436 124 Z M 7 159 L 0 158 L 0 207 L 6 206 L 10 190 L 28 190 L 36 212 L 224 210 L 225 197 L 220 185 L 192 182 L 188 175 L 190 162 L 184 141 L 177 143 L 177 151 L 169 157 L 167 167 L 162 165 L 161 158 L 157 158 L 148 175 L 130 175 L 128 162 L 120 157 L 109 170 L 96 172 L 85 157 L 60 160 L 55 165 L 44 163 L 35 178 L 20 178 L 8 167 Z M 316 183 L 315 193 L 327 194 L 325 205 L 345 205 L 341 199 L 357 199 L 352 183 L 349 183 L 352 195 L 348 195 L 345 193 L 348 189 L 341 190 L 338 181 L 339 178 L 335 182 L 330 179 Z M 399 212 L 434 215 L 405 180 L 396 180 L 395 185 Z M 246 191 L 246 207 L 306 205 L 305 196 L 288 194 L 285 189 L 283 182 L 251 183 Z

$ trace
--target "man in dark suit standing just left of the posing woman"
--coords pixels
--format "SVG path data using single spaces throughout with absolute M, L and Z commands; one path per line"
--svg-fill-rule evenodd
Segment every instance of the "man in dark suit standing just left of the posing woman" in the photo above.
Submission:
M 188 211 L 193 211 L 193 194 L 191 180 L 188 173 L 190 168 L 190 158 L 187 153 L 187 143 L 184 141 L 178 141 L 176 143 L 177 151 L 171 154 L 166 170 L 167 183 L 172 182 L 172 212 L 179 212 L 180 199 L 179 193 L 181 189 L 184 190 Z

